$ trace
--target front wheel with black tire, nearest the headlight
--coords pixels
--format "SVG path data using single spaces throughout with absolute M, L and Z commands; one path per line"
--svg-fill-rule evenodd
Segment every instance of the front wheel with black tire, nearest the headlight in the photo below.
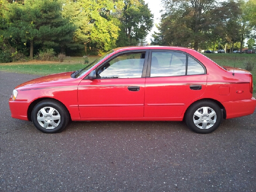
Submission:
M 70 115 L 61 102 L 47 99 L 40 101 L 34 106 L 31 120 L 34 126 L 44 133 L 58 133 L 68 124 Z

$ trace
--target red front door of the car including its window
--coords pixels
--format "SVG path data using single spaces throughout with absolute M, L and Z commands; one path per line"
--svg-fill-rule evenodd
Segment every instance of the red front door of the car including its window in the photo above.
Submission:
M 97 79 L 78 86 L 81 118 L 141 118 L 144 116 L 146 52 L 119 54 L 96 69 Z

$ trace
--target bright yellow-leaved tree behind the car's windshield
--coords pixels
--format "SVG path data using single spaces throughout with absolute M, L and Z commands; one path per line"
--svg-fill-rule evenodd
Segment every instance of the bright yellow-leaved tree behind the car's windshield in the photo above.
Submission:
M 101 52 L 116 47 L 120 22 L 114 14 L 122 10 L 122 0 L 79 0 L 80 6 L 93 24 L 90 42 Z

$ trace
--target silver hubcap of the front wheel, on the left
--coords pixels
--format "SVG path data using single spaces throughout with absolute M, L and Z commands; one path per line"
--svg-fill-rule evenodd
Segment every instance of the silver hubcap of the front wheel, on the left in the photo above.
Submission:
M 37 121 L 45 129 L 54 129 L 60 124 L 60 114 L 52 107 L 44 107 L 38 111 Z

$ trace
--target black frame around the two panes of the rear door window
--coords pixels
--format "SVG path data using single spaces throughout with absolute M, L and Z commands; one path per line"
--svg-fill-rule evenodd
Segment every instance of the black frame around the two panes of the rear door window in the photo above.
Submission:
M 188 54 L 187 52 L 180 51 L 180 50 L 160 50 L 160 49 L 150 49 L 149 50 L 149 55 L 148 55 L 148 66 L 146 70 L 146 78 L 155 78 L 155 77 L 150 77 L 150 71 L 151 71 L 151 58 L 152 58 L 152 52 L 178 52 L 178 53 L 183 53 L 186 55 L 186 72 L 185 75 L 177 75 L 177 76 L 156 76 L 156 77 L 178 77 L 178 76 L 190 76 L 188 75 L 188 56 L 190 56 L 192 59 L 194 59 L 196 62 L 198 62 L 203 68 L 204 68 L 204 73 L 202 74 L 193 74 L 193 75 L 205 75 L 207 74 L 206 67 L 202 62 L 200 62 L 197 58 L 192 56 L 191 54 Z

